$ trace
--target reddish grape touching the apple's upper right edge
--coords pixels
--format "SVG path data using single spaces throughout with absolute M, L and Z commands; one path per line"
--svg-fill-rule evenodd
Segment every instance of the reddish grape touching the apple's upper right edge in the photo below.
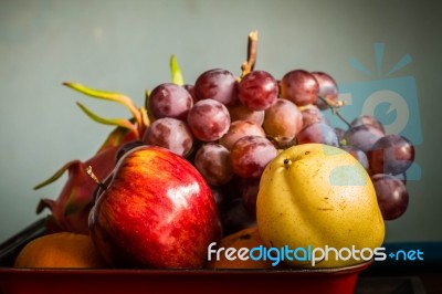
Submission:
M 233 177 L 230 151 L 217 143 L 203 144 L 194 156 L 193 165 L 211 186 L 224 185 Z

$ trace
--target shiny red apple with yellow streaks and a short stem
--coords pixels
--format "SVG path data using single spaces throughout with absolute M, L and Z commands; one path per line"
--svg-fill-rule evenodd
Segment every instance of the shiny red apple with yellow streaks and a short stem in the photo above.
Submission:
M 91 237 L 116 267 L 202 267 L 221 232 L 202 176 L 182 157 L 154 146 L 122 158 L 90 214 Z

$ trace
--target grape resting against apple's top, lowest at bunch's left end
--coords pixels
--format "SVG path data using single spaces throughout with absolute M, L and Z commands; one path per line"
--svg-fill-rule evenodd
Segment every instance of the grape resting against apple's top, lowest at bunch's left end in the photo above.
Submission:
M 187 124 L 172 117 L 155 120 L 145 132 L 143 141 L 160 146 L 180 156 L 187 156 L 193 146 L 193 136 Z

